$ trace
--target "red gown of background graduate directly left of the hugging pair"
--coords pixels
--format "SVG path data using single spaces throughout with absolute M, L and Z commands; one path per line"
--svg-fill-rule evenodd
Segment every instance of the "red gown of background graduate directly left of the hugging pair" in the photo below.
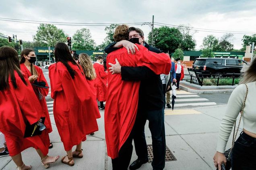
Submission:
M 104 71 L 103 65 L 99 63 L 93 64 L 93 68 L 96 72 L 95 89 L 97 92 L 98 101 L 106 101 L 107 93 L 107 73 Z

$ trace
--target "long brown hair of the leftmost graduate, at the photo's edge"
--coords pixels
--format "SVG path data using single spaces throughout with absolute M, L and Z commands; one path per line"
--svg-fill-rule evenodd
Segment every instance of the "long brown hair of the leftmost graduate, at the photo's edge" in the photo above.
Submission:
M 25 85 L 23 74 L 21 73 L 19 58 L 17 51 L 10 47 L 1 47 L 0 48 L 0 90 L 9 89 L 9 76 L 12 81 L 12 85 L 17 89 L 16 78 L 14 76 L 14 71 L 16 71 L 21 77 L 21 80 Z

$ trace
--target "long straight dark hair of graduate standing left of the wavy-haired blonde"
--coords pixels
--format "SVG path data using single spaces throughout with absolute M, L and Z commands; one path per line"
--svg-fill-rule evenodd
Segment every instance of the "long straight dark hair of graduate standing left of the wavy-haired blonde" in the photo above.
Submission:
M 80 67 L 76 63 L 76 61 L 72 58 L 72 55 L 68 49 L 68 46 L 64 42 L 58 42 L 55 45 L 55 51 L 54 51 L 54 56 L 56 63 L 61 62 L 63 63 L 66 68 L 68 69 L 68 72 L 72 79 L 74 79 L 75 71 L 68 65 L 68 61 L 70 61 L 73 65 L 77 65 L 77 67 L 80 70 Z

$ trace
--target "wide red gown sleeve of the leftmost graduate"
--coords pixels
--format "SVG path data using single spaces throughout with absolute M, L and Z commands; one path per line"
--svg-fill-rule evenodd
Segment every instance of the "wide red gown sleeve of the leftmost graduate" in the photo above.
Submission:
M 16 83 L 18 88 L 14 89 L 14 93 L 23 115 L 30 124 L 33 124 L 40 119 L 42 113 L 39 113 L 39 111 L 42 109 L 29 80 L 26 79 L 26 81 L 27 85 L 20 78 L 17 78 Z

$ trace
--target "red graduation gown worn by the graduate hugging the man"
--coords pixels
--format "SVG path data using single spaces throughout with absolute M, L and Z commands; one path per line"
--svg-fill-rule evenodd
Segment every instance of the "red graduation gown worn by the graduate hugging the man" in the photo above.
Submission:
M 171 59 L 164 53 L 157 54 L 147 48 L 137 45 L 136 55 L 128 55 L 125 48 L 118 49 L 107 55 L 108 63 L 121 66 L 146 66 L 156 74 L 168 74 L 171 69 Z M 138 90 L 140 81 L 122 81 L 121 74 L 108 73 L 107 101 L 105 106 L 105 137 L 107 155 L 112 159 L 118 157 L 118 152 L 127 140 L 135 122 L 138 107 Z

